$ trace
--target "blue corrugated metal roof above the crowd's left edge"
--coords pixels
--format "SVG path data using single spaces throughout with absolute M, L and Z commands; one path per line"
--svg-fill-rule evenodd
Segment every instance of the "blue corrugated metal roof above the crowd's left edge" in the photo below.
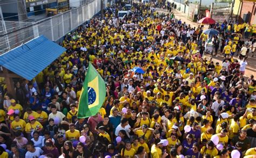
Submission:
M 39 36 L 0 56 L 0 65 L 19 76 L 32 80 L 66 49 Z

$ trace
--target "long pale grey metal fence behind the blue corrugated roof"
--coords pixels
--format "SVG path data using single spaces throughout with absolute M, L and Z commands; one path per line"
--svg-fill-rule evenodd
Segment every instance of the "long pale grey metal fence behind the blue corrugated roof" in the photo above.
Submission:
M 100 11 L 100 0 L 90 1 L 83 6 L 58 13 L 35 23 L 0 21 L 0 53 L 40 35 L 57 41 Z

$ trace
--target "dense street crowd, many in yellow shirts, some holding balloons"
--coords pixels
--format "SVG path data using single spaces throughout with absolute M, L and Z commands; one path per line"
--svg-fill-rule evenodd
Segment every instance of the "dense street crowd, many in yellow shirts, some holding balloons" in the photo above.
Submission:
M 69 33 L 59 58 L 15 81 L 15 98 L 1 78 L 0 157 L 256 157 L 255 80 L 244 76 L 255 26 L 225 21 L 208 36 L 154 4 L 134 3 L 122 20 L 118 10 Z M 209 39 L 223 61 L 206 56 Z M 79 119 L 89 62 L 106 98 Z

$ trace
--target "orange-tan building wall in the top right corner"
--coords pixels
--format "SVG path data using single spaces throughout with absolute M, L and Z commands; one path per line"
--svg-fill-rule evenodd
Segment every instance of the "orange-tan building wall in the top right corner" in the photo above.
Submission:
M 251 13 L 251 17 L 250 17 L 249 22 L 251 24 L 253 24 L 254 23 L 254 18 L 256 18 L 255 17 L 255 2 L 247 2 L 247 1 L 242 2 L 240 18 L 242 19 L 242 17 L 244 16 L 244 13 L 248 13 L 248 11 Z

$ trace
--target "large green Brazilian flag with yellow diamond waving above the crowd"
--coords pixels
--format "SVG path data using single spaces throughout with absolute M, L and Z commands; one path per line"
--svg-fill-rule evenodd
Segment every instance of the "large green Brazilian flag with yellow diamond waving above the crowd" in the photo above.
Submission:
M 96 115 L 106 96 L 105 82 L 91 63 L 79 98 L 78 119 Z

